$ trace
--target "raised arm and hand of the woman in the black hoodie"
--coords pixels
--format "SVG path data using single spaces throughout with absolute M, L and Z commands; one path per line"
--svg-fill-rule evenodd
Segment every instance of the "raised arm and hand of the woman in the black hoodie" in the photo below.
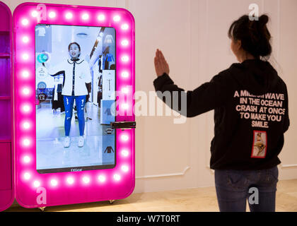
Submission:
M 170 93 L 169 103 L 171 106 L 168 106 L 180 112 L 180 114 L 185 117 L 195 117 L 216 107 L 221 107 L 226 103 L 228 97 L 232 95 L 231 88 L 229 87 L 231 83 L 228 82 L 230 78 L 228 71 L 219 73 L 219 75 L 214 76 L 209 83 L 204 83 L 195 90 L 185 92 L 184 89 L 175 85 L 169 77 L 169 66 L 162 52 L 159 50 L 156 52 L 155 69 L 158 78 L 153 81 L 153 85 L 157 91 L 158 97 L 165 102 L 165 95 L 163 94 L 165 92 Z M 173 102 L 178 102 L 178 105 L 174 106 Z

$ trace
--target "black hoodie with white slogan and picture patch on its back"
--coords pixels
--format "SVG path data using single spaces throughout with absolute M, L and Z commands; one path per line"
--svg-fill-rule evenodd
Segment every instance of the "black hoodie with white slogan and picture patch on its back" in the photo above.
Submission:
M 281 163 L 277 156 L 289 128 L 288 93 L 268 61 L 249 59 L 232 64 L 209 83 L 187 93 L 166 73 L 153 85 L 164 102 L 165 91 L 186 95 L 187 109 L 179 111 L 184 116 L 214 109 L 211 169 L 269 169 Z M 178 109 L 169 107 L 179 110 L 180 100 Z M 171 97 L 170 103 L 174 101 Z

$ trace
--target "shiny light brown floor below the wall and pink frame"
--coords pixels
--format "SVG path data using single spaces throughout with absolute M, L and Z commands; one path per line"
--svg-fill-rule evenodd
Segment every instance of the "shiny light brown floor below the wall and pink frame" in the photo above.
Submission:
M 248 206 L 248 205 L 247 205 Z M 249 211 L 249 208 L 247 207 Z M 12 207 L 7 212 L 40 211 Z M 66 212 L 216 212 L 219 211 L 214 187 L 185 189 L 177 191 L 160 191 L 142 194 L 132 194 L 128 198 L 115 201 L 112 205 L 108 201 L 97 203 L 83 203 L 69 206 L 53 206 L 45 211 Z M 276 211 L 297 212 L 297 179 L 280 181 L 276 192 Z

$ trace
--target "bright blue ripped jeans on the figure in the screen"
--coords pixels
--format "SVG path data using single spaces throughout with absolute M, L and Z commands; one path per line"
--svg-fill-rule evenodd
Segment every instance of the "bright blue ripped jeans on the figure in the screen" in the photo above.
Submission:
M 83 136 L 83 131 L 85 130 L 85 114 L 84 109 L 86 105 L 86 95 L 83 96 L 63 96 L 64 107 L 65 107 L 65 136 L 69 136 L 72 113 L 74 109 L 74 100 L 76 102 L 76 110 L 78 117 L 78 127 L 79 135 Z

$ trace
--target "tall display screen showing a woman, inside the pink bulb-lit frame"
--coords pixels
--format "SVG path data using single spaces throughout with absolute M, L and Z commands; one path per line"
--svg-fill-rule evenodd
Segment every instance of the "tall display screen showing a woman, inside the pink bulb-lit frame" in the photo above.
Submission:
M 36 169 L 115 167 L 115 29 L 36 25 Z

